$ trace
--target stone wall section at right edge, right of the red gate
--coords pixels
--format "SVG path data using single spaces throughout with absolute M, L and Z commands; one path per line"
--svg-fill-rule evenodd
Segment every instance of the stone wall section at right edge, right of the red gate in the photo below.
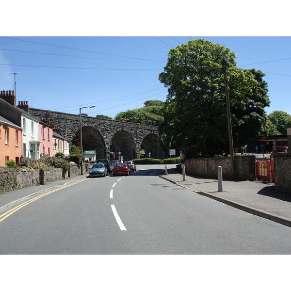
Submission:
M 274 154 L 275 190 L 291 194 L 291 153 Z

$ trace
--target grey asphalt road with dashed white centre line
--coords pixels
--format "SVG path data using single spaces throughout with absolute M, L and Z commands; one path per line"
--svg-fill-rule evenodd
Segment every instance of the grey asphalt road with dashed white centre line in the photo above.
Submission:
M 0 218 L 0 254 L 291 254 L 290 227 L 173 185 L 162 169 L 34 197 Z

